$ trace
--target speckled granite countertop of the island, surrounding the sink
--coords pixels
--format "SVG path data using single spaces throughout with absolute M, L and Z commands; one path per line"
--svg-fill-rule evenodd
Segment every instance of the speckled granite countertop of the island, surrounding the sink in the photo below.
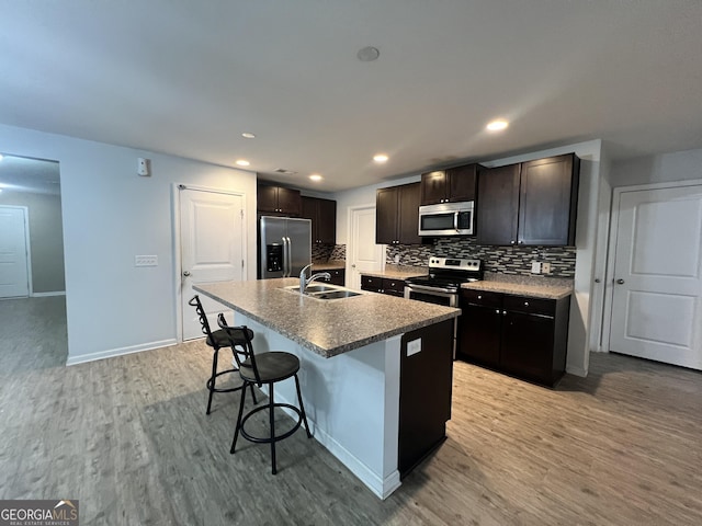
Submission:
M 283 289 L 296 278 L 222 282 L 193 288 L 325 357 L 432 325 L 460 309 L 363 293 L 320 300 Z

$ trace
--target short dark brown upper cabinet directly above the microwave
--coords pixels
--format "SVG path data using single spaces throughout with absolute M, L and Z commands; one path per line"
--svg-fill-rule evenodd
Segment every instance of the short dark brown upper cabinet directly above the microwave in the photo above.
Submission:
M 477 164 L 421 174 L 421 205 L 461 203 L 475 199 Z

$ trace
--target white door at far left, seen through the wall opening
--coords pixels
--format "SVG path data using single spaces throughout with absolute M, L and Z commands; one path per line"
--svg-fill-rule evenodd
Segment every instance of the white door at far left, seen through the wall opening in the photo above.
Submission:
M 0 298 L 30 295 L 26 210 L 0 206 Z

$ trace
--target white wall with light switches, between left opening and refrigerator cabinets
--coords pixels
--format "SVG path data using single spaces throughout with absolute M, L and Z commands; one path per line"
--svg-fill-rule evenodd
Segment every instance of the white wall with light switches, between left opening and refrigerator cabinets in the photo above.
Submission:
M 256 276 L 256 174 L 0 125 L 2 151 L 60 162 L 69 363 L 177 338 L 173 183 L 242 192 L 247 267 Z M 151 159 L 150 178 L 136 174 Z M 135 267 L 156 254 L 157 267 Z

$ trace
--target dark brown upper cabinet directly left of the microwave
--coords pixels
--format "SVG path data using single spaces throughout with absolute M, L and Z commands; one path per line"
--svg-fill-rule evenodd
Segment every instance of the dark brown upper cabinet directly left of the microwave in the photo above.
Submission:
M 375 242 L 378 244 L 420 244 L 420 183 L 381 188 L 375 198 Z

